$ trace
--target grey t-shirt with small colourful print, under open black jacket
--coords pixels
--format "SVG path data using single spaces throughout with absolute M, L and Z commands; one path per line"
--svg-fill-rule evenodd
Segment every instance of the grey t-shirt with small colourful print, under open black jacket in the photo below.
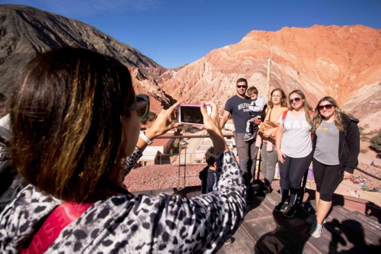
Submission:
M 339 129 L 335 122 L 322 121 L 316 132 L 315 160 L 325 165 L 339 164 Z

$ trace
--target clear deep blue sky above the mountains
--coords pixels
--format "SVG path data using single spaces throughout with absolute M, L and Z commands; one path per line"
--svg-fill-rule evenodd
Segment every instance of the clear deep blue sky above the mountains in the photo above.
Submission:
M 0 0 L 90 24 L 166 68 L 239 42 L 252 30 L 381 28 L 381 0 Z

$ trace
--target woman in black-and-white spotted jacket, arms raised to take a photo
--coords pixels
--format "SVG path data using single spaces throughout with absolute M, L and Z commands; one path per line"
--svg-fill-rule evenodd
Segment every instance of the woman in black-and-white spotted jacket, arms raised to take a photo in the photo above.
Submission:
M 149 99 L 135 95 L 122 63 L 70 47 L 34 58 L 10 100 L 11 158 L 29 185 L 0 214 L 0 252 L 216 252 L 243 219 L 246 190 L 218 107 L 205 104 L 217 190 L 134 196 L 123 179 L 152 139 L 179 126 L 170 121 L 179 103 L 139 135 Z

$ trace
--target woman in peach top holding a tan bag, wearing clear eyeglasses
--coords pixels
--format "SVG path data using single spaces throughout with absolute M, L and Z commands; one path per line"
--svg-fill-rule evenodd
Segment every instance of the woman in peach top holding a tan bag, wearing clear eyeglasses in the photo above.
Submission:
M 277 123 L 280 115 L 288 110 L 287 96 L 282 89 L 276 88 L 271 91 L 269 102 L 269 110 L 267 111 L 264 121 L 268 120 L 278 126 Z M 268 129 L 263 132 L 264 137 L 275 137 L 278 128 Z M 271 183 L 275 176 L 275 165 L 278 161 L 277 152 L 275 152 L 275 144 L 270 141 L 263 139 L 261 147 L 261 158 L 262 158 L 262 173 L 264 178 L 263 193 L 269 194 L 272 192 Z

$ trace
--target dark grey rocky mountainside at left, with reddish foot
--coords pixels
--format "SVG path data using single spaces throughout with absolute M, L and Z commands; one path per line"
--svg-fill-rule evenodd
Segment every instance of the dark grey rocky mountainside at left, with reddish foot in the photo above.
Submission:
M 68 45 L 113 56 L 130 67 L 134 86 L 149 94 L 153 112 L 170 105 L 170 97 L 156 83 L 167 69 L 92 26 L 21 5 L 0 5 L 0 92 L 9 93 L 18 68 L 30 58 Z

